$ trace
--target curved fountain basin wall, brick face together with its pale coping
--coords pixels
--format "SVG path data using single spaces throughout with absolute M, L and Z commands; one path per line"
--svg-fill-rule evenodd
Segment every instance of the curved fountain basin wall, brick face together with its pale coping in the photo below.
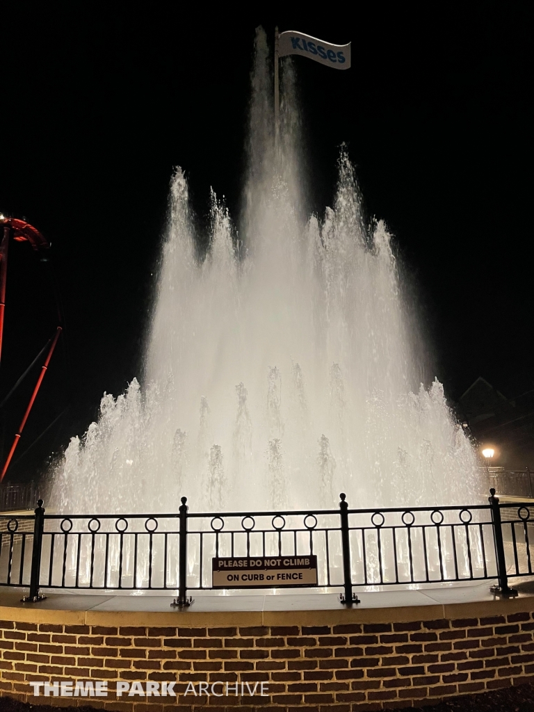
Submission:
M 2 595 L 0 694 L 58 706 L 74 698 L 32 696 L 30 681 L 108 681 L 108 695 L 78 703 L 118 709 L 119 681 L 174 681 L 174 697 L 122 696 L 120 709 L 185 709 L 208 702 L 184 696 L 190 682 L 238 683 L 243 704 L 347 709 L 405 706 L 520 684 L 532 674 L 534 591 L 500 600 L 482 585 L 421 591 L 359 592 L 361 604 L 335 595 L 198 595 L 184 611 L 168 596 L 49 595 L 22 604 Z M 249 698 L 264 683 L 268 698 Z M 191 690 L 191 688 L 189 688 Z M 216 692 L 224 687 L 215 688 Z M 233 688 L 231 688 L 232 690 Z M 259 689 L 259 688 L 258 688 Z M 213 703 L 214 700 L 209 700 Z M 239 703 L 241 702 L 241 706 Z M 355 707 L 356 708 L 356 707 Z

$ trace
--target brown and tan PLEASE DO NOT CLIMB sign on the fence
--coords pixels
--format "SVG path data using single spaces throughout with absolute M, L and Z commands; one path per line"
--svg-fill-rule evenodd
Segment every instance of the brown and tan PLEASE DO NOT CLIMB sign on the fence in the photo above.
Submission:
M 214 588 L 317 586 L 317 557 L 217 557 L 211 560 Z

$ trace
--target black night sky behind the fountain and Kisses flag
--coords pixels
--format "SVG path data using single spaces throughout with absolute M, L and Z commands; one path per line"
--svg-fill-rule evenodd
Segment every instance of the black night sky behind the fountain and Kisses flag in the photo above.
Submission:
M 415 285 L 431 375 L 451 401 L 478 376 L 507 397 L 534 388 L 529 5 L 339 4 L 328 19 L 277 6 L 4 9 L 0 211 L 26 216 L 52 249 L 41 263 L 11 244 L 0 400 L 53 334 L 55 294 L 65 325 L 14 481 L 140 374 L 173 167 L 199 220 L 210 186 L 238 216 L 260 24 L 271 42 L 275 23 L 352 41 L 346 72 L 294 60 L 310 211 L 332 203 L 346 142 L 366 215 L 387 222 Z M 4 453 L 37 375 L 2 409 Z

